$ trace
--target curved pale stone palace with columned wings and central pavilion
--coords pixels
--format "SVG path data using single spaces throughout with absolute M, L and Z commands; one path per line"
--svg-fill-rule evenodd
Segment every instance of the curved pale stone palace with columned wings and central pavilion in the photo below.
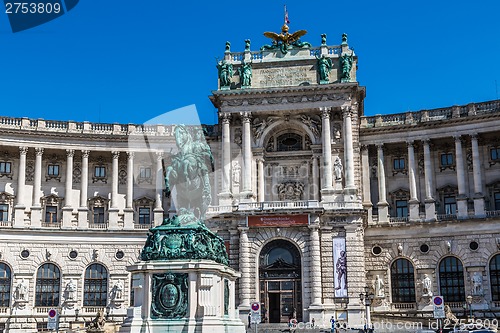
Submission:
M 357 55 L 275 37 L 218 64 L 205 126 L 207 225 L 269 322 L 500 312 L 500 101 L 364 116 Z M 276 34 L 276 36 L 280 36 Z M 126 267 L 175 213 L 175 125 L 0 117 L 0 329 L 34 332 L 133 305 Z M 137 286 L 134 286 L 137 287 Z M 76 311 L 78 310 L 78 311 Z

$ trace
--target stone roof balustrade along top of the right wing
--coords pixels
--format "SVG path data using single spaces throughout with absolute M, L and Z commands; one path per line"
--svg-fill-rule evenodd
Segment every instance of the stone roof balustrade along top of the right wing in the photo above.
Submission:
M 396 126 L 404 124 L 411 125 L 421 122 L 463 118 L 488 113 L 500 113 L 500 100 L 416 112 L 362 117 L 361 128 Z

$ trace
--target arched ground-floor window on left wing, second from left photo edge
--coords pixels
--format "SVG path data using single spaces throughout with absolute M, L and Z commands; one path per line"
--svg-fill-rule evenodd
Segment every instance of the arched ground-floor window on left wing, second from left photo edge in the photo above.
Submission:
M 54 264 L 43 264 L 36 274 L 35 306 L 58 306 L 61 273 Z

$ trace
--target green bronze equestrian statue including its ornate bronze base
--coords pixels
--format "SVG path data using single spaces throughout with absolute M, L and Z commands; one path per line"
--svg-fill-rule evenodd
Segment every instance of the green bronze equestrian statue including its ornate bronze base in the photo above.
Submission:
M 214 170 L 203 130 L 178 125 L 174 135 L 178 152 L 166 168 L 165 185 L 167 193 L 176 188 L 172 199 L 178 215 L 149 230 L 141 260 L 208 259 L 228 265 L 222 238 L 203 222 L 212 199 L 209 173 Z

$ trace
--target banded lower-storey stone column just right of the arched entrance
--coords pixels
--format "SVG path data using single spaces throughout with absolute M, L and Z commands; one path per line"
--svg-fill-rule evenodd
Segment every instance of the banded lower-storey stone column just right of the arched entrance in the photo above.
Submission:
M 317 219 L 319 222 L 319 218 Z M 310 244 L 309 244 L 309 263 L 310 263 L 310 286 L 311 286 L 311 305 L 321 305 L 321 248 L 319 239 L 319 223 L 309 226 Z

